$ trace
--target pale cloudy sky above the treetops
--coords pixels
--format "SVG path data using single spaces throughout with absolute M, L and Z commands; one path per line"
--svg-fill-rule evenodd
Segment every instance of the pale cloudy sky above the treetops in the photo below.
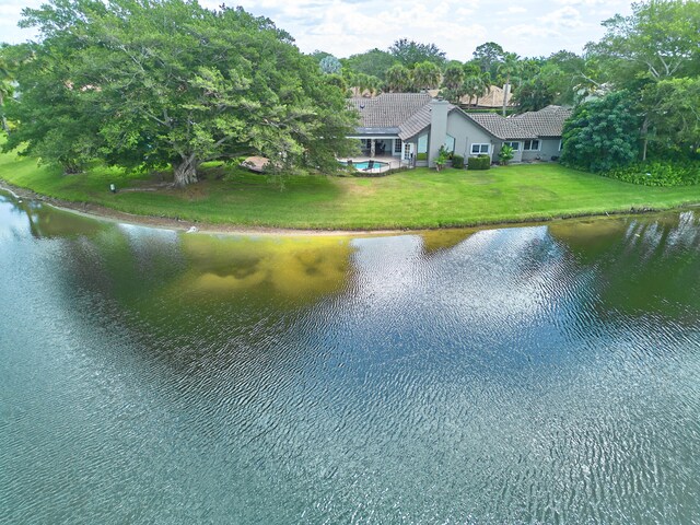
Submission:
M 25 7 L 46 0 L 0 0 L 0 42 L 34 37 L 16 26 Z M 222 0 L 199 0 L 217 8 Z M 631 12 L 629 0 L 237 0 L 246 11 L 271 19 L 304 52 L 316 49 L 338 58 L 395 40 L 435 44 L 447 58 L 466 61 L 485 42 L 495 42 L 522 57 L 548 56 L 561 49 L 581 52 L 603 36 L 600 22 Z

